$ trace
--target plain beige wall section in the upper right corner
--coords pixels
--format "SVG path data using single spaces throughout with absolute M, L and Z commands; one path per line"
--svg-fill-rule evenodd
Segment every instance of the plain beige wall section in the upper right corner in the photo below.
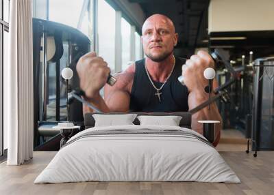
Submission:
M 211 0 L 208 33 L 274 30 L 273 0 Z

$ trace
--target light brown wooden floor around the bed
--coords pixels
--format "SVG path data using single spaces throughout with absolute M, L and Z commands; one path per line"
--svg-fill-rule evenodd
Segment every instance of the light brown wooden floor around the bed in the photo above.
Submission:
M 0 194 L 274 194 L 274 152 L 220 151 L 242 183 L 83 182 L 33 184 L 55 152 L 34 152 L 22 166 L 0 164 Z

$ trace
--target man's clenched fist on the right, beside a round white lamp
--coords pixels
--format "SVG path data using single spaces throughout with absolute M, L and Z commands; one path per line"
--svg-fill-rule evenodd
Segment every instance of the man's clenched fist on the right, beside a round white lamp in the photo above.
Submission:
M 197 55 L 192 55 L 186 60 L 186 64 L 182 66 L 182 75 L 184 83 L 188 87 L 188 91 L 201 93 L 208 85 L 208 80 L 203 76 L 207 67 L 214 67 L 212 57 L 203 50 L 199 50 Z

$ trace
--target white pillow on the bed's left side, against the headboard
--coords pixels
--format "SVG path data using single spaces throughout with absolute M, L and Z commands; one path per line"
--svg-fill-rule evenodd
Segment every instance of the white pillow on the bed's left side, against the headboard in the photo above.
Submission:
M 122 114 L 122 115 L 100 115 L 94 114 L 95 127 L 113 126 L 113 125 L 134 125 L 132 123 L 136 118 L 136 114 Z

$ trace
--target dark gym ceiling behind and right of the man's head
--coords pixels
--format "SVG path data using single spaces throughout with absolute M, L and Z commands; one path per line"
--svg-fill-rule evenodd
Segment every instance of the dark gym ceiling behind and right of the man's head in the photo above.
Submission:
M 226 48 L 231 57 L 247 55 L 253 50 L 254 57 L 274 53 L 274 31 L 238 31 L 210 33 L 208 35 L 208 6 L 210 0 L 129 0 L 138 3 L 147 17 L 164 14 L 173 20 L 179 34 L 175 54 L 190 57 L 195 48 Z M 246 37 L 245 40 L 210 40 L 212 37 Z M 209 42 L 208 42 L 209 40 Z

